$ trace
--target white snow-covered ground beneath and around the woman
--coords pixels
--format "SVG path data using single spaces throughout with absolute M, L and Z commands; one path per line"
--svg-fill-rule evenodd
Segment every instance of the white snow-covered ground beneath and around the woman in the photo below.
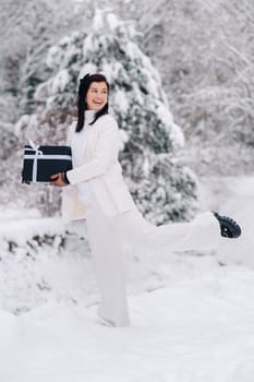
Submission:
M 97 321 L 85 227 L 2 208 L 0 381 L 253 382 L 254 177 L 201 190 L 243 236 L 213 253 L 126 253 L 125 329 Z

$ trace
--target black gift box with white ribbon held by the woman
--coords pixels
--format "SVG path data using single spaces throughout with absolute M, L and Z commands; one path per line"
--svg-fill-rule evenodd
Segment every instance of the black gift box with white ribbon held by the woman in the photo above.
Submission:
M 70 146 L 26 145 L 22 169 L 22 182 L 50 182 L 50 176 L 72 169 Z

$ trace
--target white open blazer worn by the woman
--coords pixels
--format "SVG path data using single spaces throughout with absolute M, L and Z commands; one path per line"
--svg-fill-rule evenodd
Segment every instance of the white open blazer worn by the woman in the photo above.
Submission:
M 73 122 L 70 127 L 69 145 L 73 134 L 78 134 L 75 126 Z M 92 183 L 95 199 L 106 216 L 136 208 L 118 160 L 120 135 L 117 121 L 105 115 L 86 129 L 84 164 L 68 171 L 70 184 L 62 190 L 62 217 L 65 222 L 86 217 L 85 205 L 81 203 L 75 187 L 84 181 Z

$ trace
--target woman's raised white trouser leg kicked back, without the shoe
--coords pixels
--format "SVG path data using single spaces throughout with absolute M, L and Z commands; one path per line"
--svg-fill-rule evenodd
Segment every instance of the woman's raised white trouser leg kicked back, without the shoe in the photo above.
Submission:
M 219 223 L 211 212 L 197 215 L 190 223 L 169 223 L 155 226 L 138 210 L 132 210 L 109 218 L 121 239 L 159 251 L 211 250 L 220 240 Z

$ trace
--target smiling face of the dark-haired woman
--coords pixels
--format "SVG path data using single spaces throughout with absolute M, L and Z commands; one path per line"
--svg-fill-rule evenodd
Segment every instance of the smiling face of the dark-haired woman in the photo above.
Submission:
M 86 94 L 87 110 L 99 110 L 108 102 L 108 87 L 106 82 L 92 82 Z

